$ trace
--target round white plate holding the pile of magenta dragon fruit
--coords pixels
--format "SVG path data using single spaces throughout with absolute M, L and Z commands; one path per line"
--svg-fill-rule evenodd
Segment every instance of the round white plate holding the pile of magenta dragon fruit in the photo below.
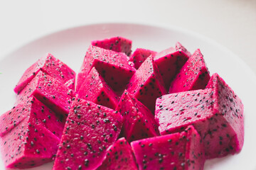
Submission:
M 175 45 L 179 41 L 189 51 L 200 48 L 210 74 L 218 72 L 220 77 L 240 96 L 245 106 L 245 144 L 240 154 L 221 159 L 208 160 L 205 169 L 256 169 L 256 77 L 239 57 L 218 45 L 188 30 L 170 26 L 149 26 L 132 23 L 102 23 L 78 28 L 62 30 L 47 35 L 19 48 L 0 61 L 0 113 L 12 108 L 15 101 L 14 86 L 26 68 L 46 52 L 52 53 L 68 64 L 76 72 L 80 69 L 83 57 L 91 40 L 124 36 L 133 40 L 133 50 L 144 47 L 161 51 Z M 49 163 L 33 169 L 51 169 Z M 4 169 L 0 161 L 0 169 Z

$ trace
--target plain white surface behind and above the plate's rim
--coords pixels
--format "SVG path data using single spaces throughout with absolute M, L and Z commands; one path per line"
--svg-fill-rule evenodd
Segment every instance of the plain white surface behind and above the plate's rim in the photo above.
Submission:
M 255 0 L 0 0 L 0 60 L 48 33 L 118 21 L 160 23 L 201 33 L 235 52 L 256 73 Z

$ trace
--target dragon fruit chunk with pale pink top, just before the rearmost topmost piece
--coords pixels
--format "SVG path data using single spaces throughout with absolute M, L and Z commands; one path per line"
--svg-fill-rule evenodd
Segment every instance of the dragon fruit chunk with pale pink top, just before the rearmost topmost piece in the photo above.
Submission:
M 124 53 L 105 50 L 100 47 L 90 46 L 78 74 L 76 90 L 79 91 L 83 80 L 87 77 L 92 67 L 105 79 L 107 84 L 118 94 L 122 94 L 136 69 L 129 63 Z

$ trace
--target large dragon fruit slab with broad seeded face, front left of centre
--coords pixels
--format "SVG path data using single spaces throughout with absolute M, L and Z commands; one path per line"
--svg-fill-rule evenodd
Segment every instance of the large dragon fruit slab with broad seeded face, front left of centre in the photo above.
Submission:
M 53 169 L 97 169 L 107 148 L 117 140 L 121 127 L 119 112 L 76 98 L 70 108 Z

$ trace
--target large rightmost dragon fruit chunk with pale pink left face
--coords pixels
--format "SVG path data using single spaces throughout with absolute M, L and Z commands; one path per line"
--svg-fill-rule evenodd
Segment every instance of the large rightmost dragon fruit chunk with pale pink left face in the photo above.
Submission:
M 240 152 L 244 140 L 243 105 L 225 81 L 214 74 L 210 89 L 185 91 L 156 100 L 161 135 L 193 125 L 201 135 L 208 159 Z

